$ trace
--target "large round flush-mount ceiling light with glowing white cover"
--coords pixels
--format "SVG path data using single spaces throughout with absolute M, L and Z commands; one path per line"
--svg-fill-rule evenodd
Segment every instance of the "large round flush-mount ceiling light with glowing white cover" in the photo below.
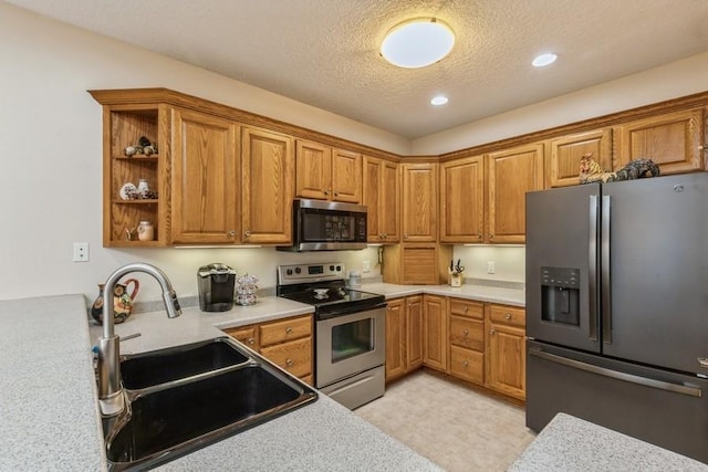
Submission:
M 415 18 L 395 25 L 381 44 L 381 54 L 394 65 L 418 69 L 450 53 L 455 33 L 436 18 Z

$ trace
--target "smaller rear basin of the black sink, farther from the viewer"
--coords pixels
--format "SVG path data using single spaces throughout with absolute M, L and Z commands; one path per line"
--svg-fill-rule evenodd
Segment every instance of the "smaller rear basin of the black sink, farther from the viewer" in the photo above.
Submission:
M 123 386 L 137 390 L 243 364 L 244 354 L 227 337 L 125 356 Z

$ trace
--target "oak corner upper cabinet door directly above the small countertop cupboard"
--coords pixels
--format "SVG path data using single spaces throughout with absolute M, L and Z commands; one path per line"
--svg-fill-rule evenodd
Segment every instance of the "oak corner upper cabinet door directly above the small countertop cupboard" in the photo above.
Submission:
M 403 164 L 403 242 L 437 241 L 438 165 Z

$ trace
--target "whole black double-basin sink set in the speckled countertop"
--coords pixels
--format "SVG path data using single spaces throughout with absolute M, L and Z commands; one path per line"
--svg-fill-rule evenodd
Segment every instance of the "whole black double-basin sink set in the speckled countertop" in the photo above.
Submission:
M 317 398 L 228 337 L 132 356 L 122 373 L 127 408 L 104 419 L 113 471 L 171 461 Z

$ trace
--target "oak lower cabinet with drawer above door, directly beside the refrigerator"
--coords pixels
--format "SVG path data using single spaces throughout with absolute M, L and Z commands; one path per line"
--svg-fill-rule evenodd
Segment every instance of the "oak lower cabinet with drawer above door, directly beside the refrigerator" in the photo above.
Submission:
M 525 310 L 488 304 L 487 387 L 525 399 Z

